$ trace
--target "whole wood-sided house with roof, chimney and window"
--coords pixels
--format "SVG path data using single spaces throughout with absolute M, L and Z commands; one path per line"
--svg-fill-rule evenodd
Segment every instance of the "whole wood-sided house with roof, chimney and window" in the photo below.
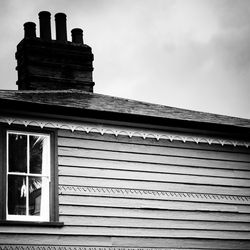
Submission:
M 250 249 L 250 120 L 94 93 L 55 18 L 0 91 L 0 249 Z

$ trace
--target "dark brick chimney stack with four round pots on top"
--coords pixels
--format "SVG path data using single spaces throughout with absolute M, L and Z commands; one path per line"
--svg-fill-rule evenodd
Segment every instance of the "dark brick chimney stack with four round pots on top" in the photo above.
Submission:
M 39 13 L 40 37 L 36 36 L 35 23 L 24 24 L 24 39 L 16 52 L 18 89 L 93 92 L 94 56 L 91 47 L 83 42 L 82 29 L 73 29 L 72 41 L 67 41 L 66 15 L 57 13 L 53 40 L 50 16 L 48 11 Z

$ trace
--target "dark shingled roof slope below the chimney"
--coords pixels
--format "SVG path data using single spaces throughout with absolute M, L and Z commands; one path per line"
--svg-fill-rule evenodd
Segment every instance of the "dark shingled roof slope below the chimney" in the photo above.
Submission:
M 53 107 L 68 107 L 87 111 L 106 111 L 163 119 L 221 124 L 250 128 L 250 120 L 205 112 L 168 107 L 164 105 L 112 97 L 81 90 L 2 90 L 0 101 L 36 103 Z

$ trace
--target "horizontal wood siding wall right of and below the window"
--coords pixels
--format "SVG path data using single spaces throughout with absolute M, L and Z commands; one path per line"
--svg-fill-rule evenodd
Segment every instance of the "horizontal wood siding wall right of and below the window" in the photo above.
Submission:
M 0 249 L 250 249 L 246 147 L 59 130 L 58 156 L 65 225 L 0 227 Z

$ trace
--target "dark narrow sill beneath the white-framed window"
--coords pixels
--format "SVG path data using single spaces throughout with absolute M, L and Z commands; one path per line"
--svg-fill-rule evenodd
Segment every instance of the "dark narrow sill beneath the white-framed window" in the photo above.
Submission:
M 64 223 L 59 221 L 42 222 L 42 221 L 1 221 L 0 226 L 30 226 L 30 227 L 63 227 Z

